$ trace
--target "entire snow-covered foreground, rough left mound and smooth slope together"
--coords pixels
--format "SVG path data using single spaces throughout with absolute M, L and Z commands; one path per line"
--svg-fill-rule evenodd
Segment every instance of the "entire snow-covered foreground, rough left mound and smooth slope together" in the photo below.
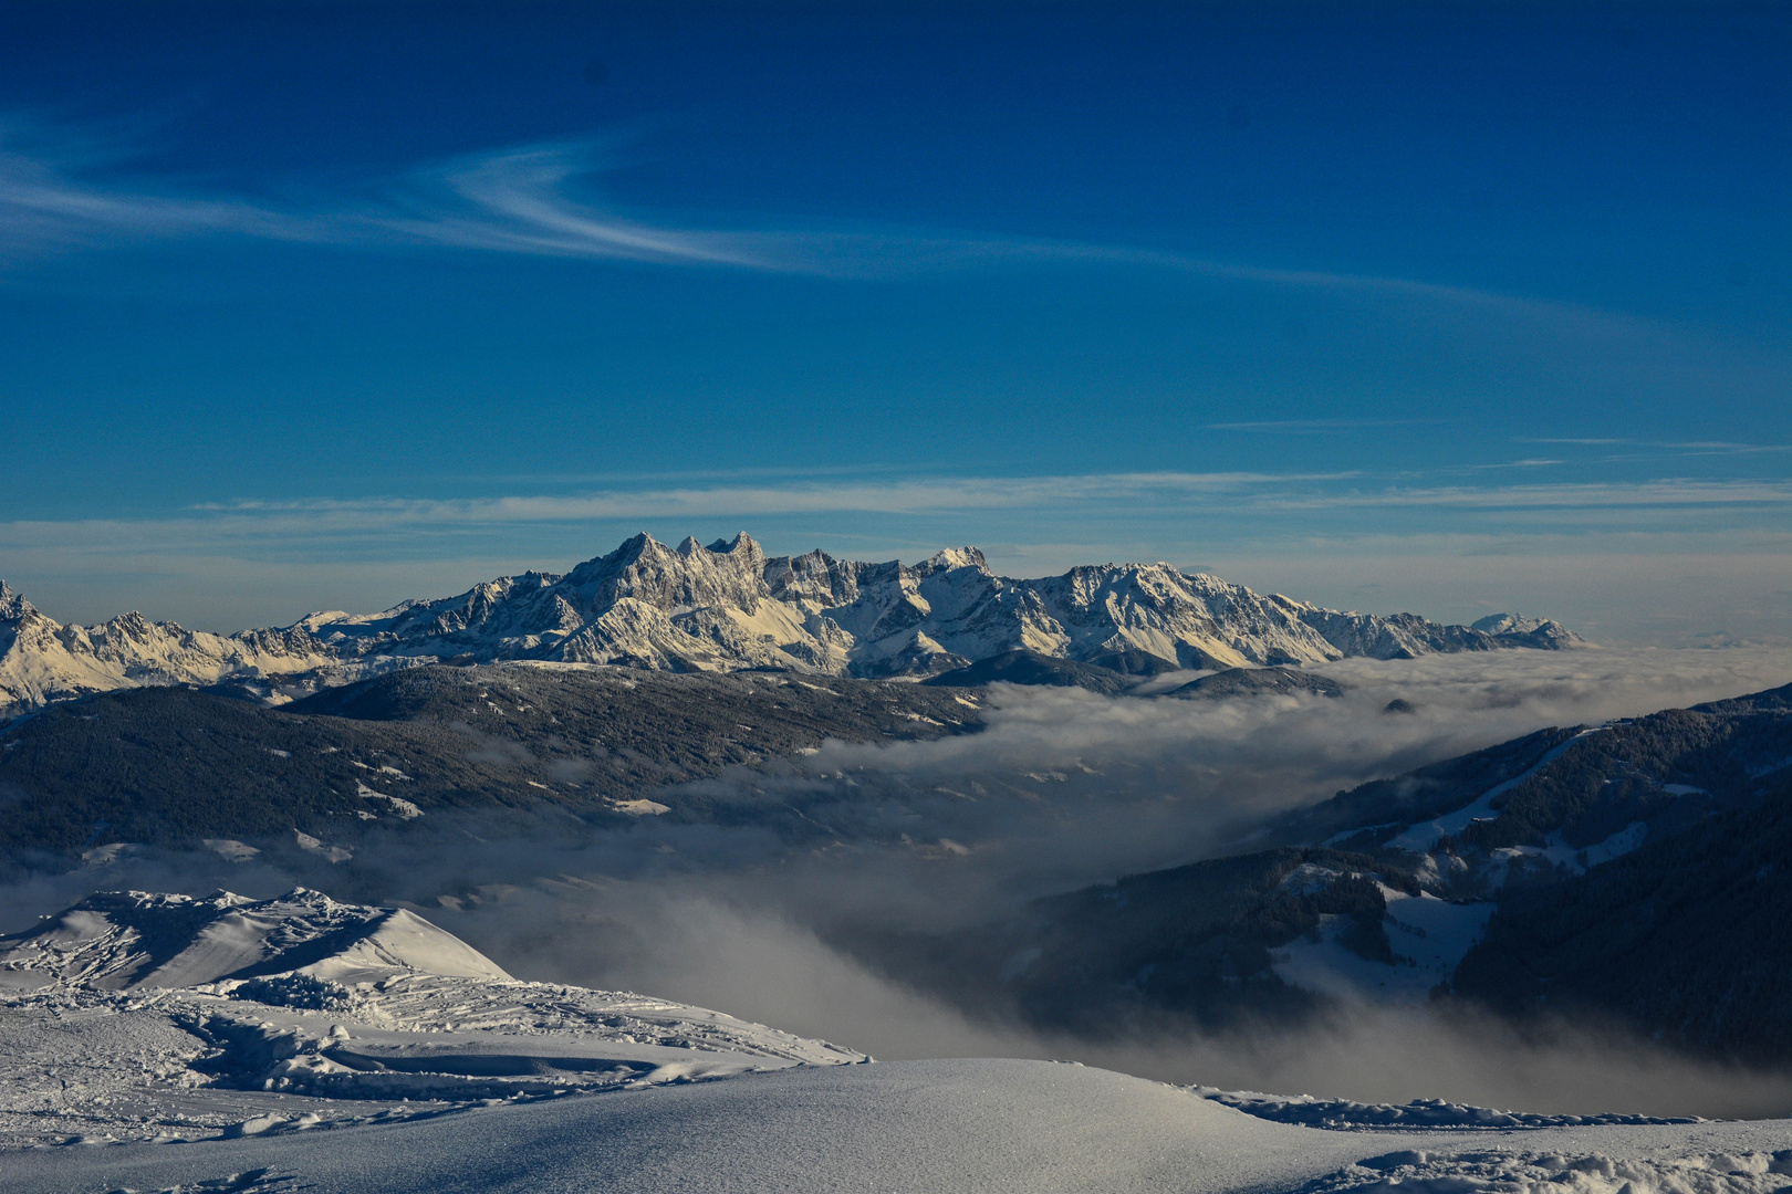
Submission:
M 1792 1187 L 1787 1121 L 1593 1126 L 1188 1090 L 1050 1062 L 864 1062 L 702 1008 L 521 983 L 410 913 L 317 891 L 100 893 L 0 940 L 0 1187 Z

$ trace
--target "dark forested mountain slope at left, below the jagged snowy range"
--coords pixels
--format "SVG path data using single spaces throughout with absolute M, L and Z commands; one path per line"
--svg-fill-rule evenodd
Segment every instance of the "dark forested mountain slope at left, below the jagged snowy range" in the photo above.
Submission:
M 695 795 L 676 807 L 642 798 L 824 738 L 898 741 L 978 723 L 975 700 L 916 684 L 564 664 L 414 668 L 283 709 L 131 689 L 0 732 L 0 843 L 16 857 L 294 843 L 296 832 L 346 841 L 439 809 L 711 820 L 726 809 Z

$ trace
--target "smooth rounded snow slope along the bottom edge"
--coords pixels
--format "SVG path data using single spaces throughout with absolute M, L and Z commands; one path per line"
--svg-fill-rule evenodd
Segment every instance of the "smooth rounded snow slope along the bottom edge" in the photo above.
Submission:
M 1050 1062 L 799 1067 L 185 1146 L 30 1149 L 7 1189 L 1770 1194 L 1785 1121 L 1324 1131 Z M 201 1187 L 202 1189 L 202 1187 Z

